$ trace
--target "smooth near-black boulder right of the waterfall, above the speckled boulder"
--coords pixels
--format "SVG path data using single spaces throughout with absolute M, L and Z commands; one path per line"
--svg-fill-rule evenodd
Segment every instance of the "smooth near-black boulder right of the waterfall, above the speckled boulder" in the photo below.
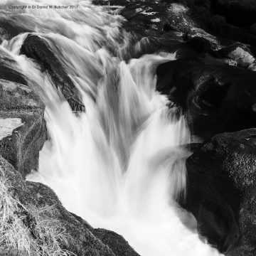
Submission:
M 156 74 L 156 89 L 187 113 L 193 134 L 206 139 L 256 126 L 254 72 L 187 58 L 159 65 Z

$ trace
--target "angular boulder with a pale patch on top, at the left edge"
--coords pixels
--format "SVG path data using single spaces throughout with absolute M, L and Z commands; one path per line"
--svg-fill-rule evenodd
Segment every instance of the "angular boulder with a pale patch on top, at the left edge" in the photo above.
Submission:
M 47 139 L 43 110 L 0 110 L 0 122 L 10 127 L 1 134 L 0 154 L 25 177 L 32 169 L 38 169 L 39 151 Z

